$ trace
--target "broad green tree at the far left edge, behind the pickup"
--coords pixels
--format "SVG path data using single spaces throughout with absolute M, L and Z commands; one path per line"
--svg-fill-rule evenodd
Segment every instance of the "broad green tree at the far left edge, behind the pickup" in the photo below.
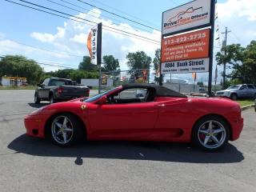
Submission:
M 0 61 L 0 77 L 18 76 L 35 85 L 40 82 L 43 74 L 42 67 L 37 62 L 20 55 L 7 55 Z

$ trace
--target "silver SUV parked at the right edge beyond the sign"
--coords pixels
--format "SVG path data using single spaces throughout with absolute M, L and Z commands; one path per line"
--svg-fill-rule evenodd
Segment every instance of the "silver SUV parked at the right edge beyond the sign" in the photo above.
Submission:
M 238 100 L 238 98 L 256 98 L 256 86 L 252 84 L 243 84 L 230 86 L 226 90 L 216 92 L 217 97 L 231 98 Z

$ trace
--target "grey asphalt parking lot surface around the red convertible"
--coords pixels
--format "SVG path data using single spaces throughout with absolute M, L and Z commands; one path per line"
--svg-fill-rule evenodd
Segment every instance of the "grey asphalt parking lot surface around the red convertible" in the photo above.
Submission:
M 256 191 L 256 113 L 238 141 L 206 153 L 188 144 L 85 142 L 62 148 L 25 135 L 33 90 L 0 90 L 0 191 Z M 46 104 L 43 104 L 46 105 Z

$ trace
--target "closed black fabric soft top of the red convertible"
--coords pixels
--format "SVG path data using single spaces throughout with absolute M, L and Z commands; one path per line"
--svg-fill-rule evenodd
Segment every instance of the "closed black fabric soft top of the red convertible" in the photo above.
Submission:
M 125 90 L 130 88 L 154 89 L 155 95 L 158 97 L 187 98 L 185 94 L 180 94 L 177 91 L 166 88 L 165 86 L 158 86 L 150 83 L 129 83 L 122 85 L 122 88 Z

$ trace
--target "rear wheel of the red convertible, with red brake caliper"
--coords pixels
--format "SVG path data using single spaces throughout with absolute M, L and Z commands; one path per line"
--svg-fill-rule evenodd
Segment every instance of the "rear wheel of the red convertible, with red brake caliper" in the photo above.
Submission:
M 212 129 L 210 129 L 210 124 Z M 206 116 L 194 126 L 192 141 L 206 151 L 221 150 L 230 138 L 230 126 L 218 116 Z

